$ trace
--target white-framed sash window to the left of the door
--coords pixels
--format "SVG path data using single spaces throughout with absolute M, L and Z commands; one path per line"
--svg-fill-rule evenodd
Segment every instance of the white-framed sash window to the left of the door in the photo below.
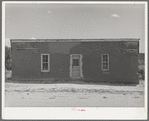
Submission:
M 49 54 L 41 54 L 41 72 L 49 72 Z

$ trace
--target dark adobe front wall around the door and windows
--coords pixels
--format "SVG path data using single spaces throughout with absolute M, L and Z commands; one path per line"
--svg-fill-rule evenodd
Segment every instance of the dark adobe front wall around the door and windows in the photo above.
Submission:
M 70 54 L 83 55 L 84 79 L 99 82 L 138 83 L 137 51 L 128 51 L 126 42 L 30 42 L 12 43 L 12 78 L 69 78 Z M 129 43 L 129 42 L 128 42 Z M 129 45 L 129 44 L 126 44 Z M 132 45 L 132 44 L 130 44 Z M 133 48 L 133 47 L 132 47 Z M 138 42 L 134 48 L 138 50 Z M 41 72 L 41 54 L 50 54 L 50 72 Z M 101 69 L 101 54 L 109 54 L 109 71 Z

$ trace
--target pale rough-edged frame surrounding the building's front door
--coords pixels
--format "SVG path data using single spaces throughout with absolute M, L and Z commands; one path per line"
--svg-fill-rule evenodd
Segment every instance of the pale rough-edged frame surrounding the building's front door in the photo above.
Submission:
M 79 55 L 80 58 L 79 58 L 79 67 L 80 67 L 80 77 L 72 77 L 72 56 L 73 55 Z M 83 62 L 82 62 L 82 54 L 70 54 L 70 73 L 69 73 L 69 76 L 70 78 L 82 78 L 83 77 L 83 72 L 82 72 L 82 66 L 83 66 Z

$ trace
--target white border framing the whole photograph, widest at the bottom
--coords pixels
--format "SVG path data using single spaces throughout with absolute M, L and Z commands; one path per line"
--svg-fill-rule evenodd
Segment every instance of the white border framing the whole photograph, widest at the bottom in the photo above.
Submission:
M 145 5 L 145 107 L 75 107 L 85 111 L 72 111 L 73 107 L 5 107 L 5 4 L 144 4 Z M 147 119 L 148 114 L 148 3 L 147 2 L 41 2 L 41 1 L 5 1 L 2 2 L 2 119 Z

